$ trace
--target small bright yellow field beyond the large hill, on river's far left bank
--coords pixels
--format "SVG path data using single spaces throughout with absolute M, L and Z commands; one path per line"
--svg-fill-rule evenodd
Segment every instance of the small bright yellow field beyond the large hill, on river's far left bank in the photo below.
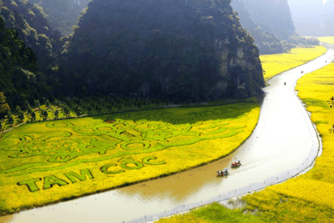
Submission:
M 260 60 L 265 71 L 264 79 L 267 81 L 283 71 L 301 66 L 326 52 L 326 47 L 317 46 L 314 48 L 294 48 L 286 54 L 261 55 Z

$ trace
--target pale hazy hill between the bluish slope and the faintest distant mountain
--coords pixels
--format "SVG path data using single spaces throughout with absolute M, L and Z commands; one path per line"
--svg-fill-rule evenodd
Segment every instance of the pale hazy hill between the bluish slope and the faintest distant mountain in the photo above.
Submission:
M 293 36 L 292 22 L 287 0 L 243 0 L 250 17 L 264 31 L 285 40 Z

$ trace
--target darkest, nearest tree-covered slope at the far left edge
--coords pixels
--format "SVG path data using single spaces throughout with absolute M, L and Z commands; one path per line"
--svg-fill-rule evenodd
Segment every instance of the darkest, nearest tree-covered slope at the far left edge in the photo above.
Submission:
M 37 69 L 33 50 L 24 45 L 17 31 L 6 29 L 0 17 L 0 90 L 6 95 L 10 107 L 38 95 Z

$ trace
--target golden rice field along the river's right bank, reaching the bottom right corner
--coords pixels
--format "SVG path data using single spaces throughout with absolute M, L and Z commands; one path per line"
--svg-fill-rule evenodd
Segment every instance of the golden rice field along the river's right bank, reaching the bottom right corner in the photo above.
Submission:
M 334 222 L 334 63 L 304 75 L 296 85 L 299 98 L 312 112 L 323 152 L 308 173 L 242 198 L 246 206 L 228 210 L 218 203 L 159 220 L 174 222 Z M 250 214 L 252 213 L 252 214 Z M 255 215 L 255 216 L 253 216 Z

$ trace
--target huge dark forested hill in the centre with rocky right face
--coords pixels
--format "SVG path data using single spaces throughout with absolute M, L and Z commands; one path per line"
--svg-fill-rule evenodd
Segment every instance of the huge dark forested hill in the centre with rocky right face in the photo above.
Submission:
M 62 61 L 60 79 L 75 94 L 206 100 L 264 86 L 258 49 L 230 0 L 90 1 Z

